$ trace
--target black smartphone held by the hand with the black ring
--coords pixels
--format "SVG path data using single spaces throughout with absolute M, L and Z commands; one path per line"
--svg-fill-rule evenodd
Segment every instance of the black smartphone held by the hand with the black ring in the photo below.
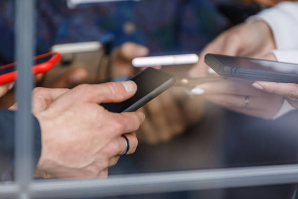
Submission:
M 176 78 L 172 74 L 151 67 L 141 71 L 130 80 L 138 86 L 134 96 L 120 103 L 101 105 L 115 113 L 136 111 L 176 83 Z

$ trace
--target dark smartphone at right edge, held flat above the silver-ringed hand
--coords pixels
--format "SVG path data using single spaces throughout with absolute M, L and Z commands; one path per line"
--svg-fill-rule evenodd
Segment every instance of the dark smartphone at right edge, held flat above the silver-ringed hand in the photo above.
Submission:
M 205 63 L 224 77 L 298 83 L 298 64 L 217 54 L 205 55 Z

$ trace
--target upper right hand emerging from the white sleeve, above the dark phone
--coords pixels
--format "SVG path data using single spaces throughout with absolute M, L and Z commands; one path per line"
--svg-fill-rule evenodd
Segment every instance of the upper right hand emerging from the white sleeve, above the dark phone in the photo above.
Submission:
M 189 71 L 189 76 L 205 76 L 208 66 L 204 62 L 207 53 L 230 56 L 260 57 L 276 48 L 273 34 L 263 21 L 244 22 L 209 43 L 201 52 L 199 62 Z

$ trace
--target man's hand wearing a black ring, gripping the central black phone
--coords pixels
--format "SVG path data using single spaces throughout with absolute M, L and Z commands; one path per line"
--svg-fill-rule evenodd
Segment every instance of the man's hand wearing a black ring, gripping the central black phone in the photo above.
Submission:
M 106 177 L 108 167 L 126 149 L 123 134 L 130 140 L 129 154 L 135 151 L 132 132 L 144 121 L 144 114 L 116 114 L 98 105 L 130 98 L 136 92 L 134 82 L 83 84 L 72 90 L 47 89 L 43 94 L 40 89 L 33 99 L 43 101 L 33 105 L 42 132 L 39 171 L 57 178 Z

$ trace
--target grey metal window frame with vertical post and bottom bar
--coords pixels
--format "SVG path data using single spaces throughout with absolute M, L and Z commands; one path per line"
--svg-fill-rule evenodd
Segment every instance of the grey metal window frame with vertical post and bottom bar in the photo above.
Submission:
M 90 180 L 32 181 L 31 90 L 33 80 L 34 0 L 16 0 L 16 57 L 18 111 L 16 117 L 16 181 L 0 184 L 0 198 L 63 198 L 116 196 L 157 192 L 231 188 L 295 183 L 298 165 L 277 165 L 114 176 Z

